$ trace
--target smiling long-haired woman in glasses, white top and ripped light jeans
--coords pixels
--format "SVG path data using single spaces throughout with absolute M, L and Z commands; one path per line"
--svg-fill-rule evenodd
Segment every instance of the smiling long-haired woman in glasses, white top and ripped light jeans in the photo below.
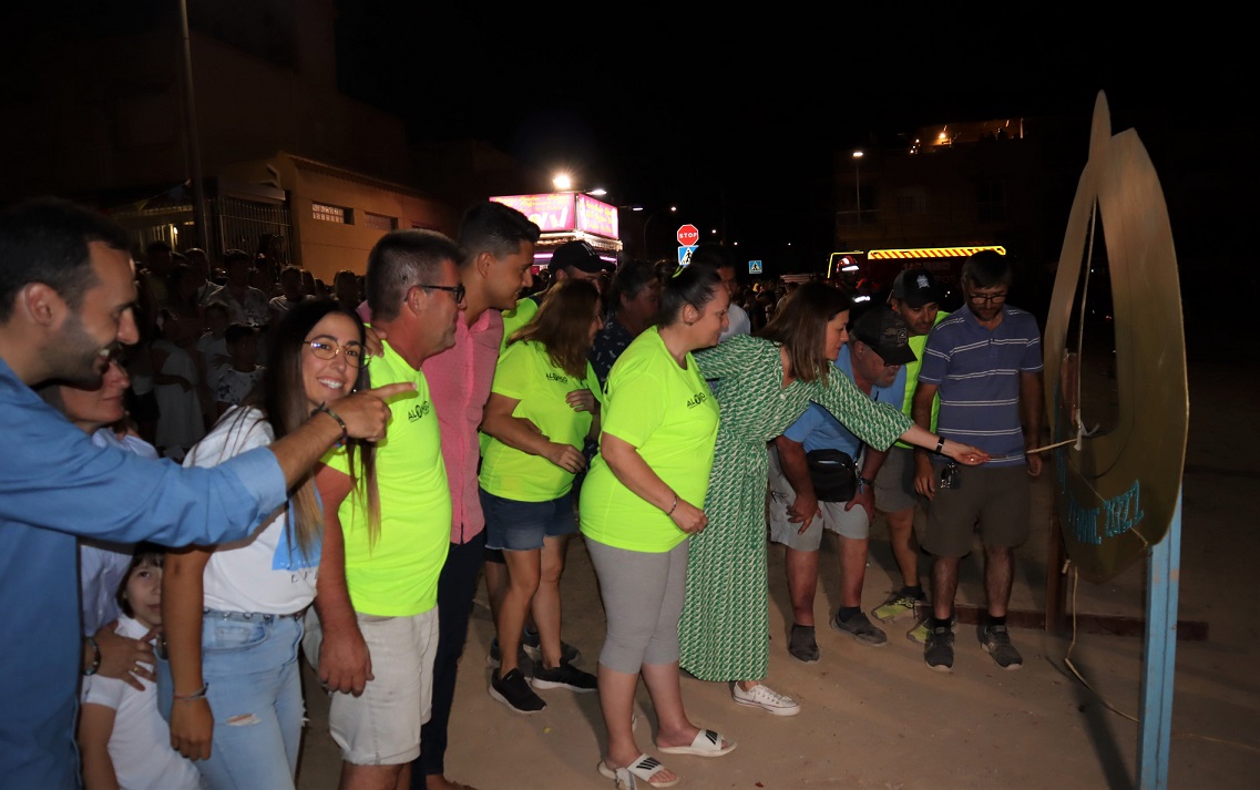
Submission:
M 363 323 L 335 301 L 300 302 L 270 334 L 262 379 L 185 466 L 214 466 L 270 445 L 314 411 L 340 422 L 338 401 L 367 386 Z M 372 445 L 352 441 L 349 450 L 352 469 L 368 483 L 364 507 L 377 513 Z M 323 529 L 307 476 L 248 539 L 166 557 L 160 699 L 171 746 L 199 761 L 210 790 L 294 787 L 304 716 L 297 646 L 315 598 Z

